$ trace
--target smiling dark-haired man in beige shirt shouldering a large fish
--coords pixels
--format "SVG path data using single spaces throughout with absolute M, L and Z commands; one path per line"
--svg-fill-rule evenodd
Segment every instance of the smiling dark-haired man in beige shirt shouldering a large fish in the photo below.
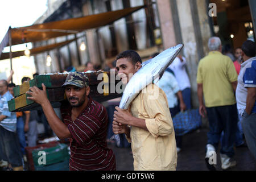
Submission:
M 131 76 L 141 68 L 141 57 L 137 52 L 129 50 L 120 53 L 116 60 L 118 76 L 123 84 L 127 84 Z M 157 97 L 154 93 L 158 93 Z M 134 170 L 176 170 L 174 126 L 163 90 L 150 84 L 139 92 L 127 110 L 119 107 L 115 109 L 113 132 L 125 133 L 131 142 Z

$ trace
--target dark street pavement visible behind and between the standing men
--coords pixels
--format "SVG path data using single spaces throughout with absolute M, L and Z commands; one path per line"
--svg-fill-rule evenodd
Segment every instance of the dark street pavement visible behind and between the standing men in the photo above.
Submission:
M 183 148 L 177 155 L 177 171 L 208 171 L 205 164 L 205 144 L 208 129 L 200 129 L 183 136 Z M 133 171 L 133 155 L 130 148 L 118 148 L 108 144 L 115 154 L 117 171 Z M 221 169 L 220 147 L 217 152 L 216 169 Z M 237 166 L 230 171 L 256 171 L 256 160 L 247 147 L 235 148 Z

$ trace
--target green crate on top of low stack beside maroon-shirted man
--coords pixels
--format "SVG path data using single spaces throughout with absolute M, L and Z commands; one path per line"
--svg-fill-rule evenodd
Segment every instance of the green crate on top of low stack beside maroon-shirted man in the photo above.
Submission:
M 42 160 L 43 154 L 39 153 L 44 151 L 46 154 L 46 164 L 39 164 L 38 162 Z M 50 164 L 60 163 L 66 159 L 69 159 L 68 146 L 67 144 L 60 143 L 55 147 L 36 149 L 32 151 L 32 158 L 35 166 L 48 166 Z M 38 160 L 40 158 L 40 160 Z

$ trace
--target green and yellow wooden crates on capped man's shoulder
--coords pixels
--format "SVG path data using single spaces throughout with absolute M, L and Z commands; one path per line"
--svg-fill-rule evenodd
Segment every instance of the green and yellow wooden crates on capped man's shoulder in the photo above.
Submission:
M 104 76 L 100 76 L 101 79 L 98 80 L 100 74 L 102 74 L 102 72 L 85 73 L 89 78 L 89 96 L 97 102 L 104 102 L 112 98 L 121 97 L 122 93 L 116 93 L 115 89 L 113 89 L 113 87 L 115 88 L 118 84 L 119 80 L 110 80 L 110 72 L 104 72 Z M 39 104 L 27 98 L 29 95 L 26 92 L 31 86 L 37 86 L 42 89 L 42 83 L 46 85 L 47 97 L 53 108 L 59 107 L 60 102 L 65 100 L 64 88 L 61 88 L 61 85 L 64 84 L 67 75 L 68 74 L 38 75 L 33 80 L 26 81 L 22 85 L 16 86 L 14 88 L 14 98 L 8 102 L 9 111 L 16 112 L 41 109 Z M 98 93 L 98 87 L 104 90 L 104 92 Z M 112 90 L 110 88 L 112 88 Z M 111 93 L 113 90 L 114 93 Z

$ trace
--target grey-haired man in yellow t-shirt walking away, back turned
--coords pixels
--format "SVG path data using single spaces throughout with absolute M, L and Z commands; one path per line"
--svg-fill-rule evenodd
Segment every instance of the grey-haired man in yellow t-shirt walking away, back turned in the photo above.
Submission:
M 212 154 L 214 154 L 212 151 L 217 152 L 221 133 L 224 131 L 220 151 L 221 167 L 228 169 L 236 166 L 236 161 L 233 160 L 233 146 L 236 140 L 238 117 L 234 96 L 237 87 L 237 73 L 232 60 L 221 53 L 220 38 L 210 38 L 208 47 L 209 55 L 200 60 L 197 71 L 199 112 L 203 117 L 207 113 L 210 129 L 205 147 L 205 162 L 210 170 L 215 170 L 209 159 L 212 159 Z

